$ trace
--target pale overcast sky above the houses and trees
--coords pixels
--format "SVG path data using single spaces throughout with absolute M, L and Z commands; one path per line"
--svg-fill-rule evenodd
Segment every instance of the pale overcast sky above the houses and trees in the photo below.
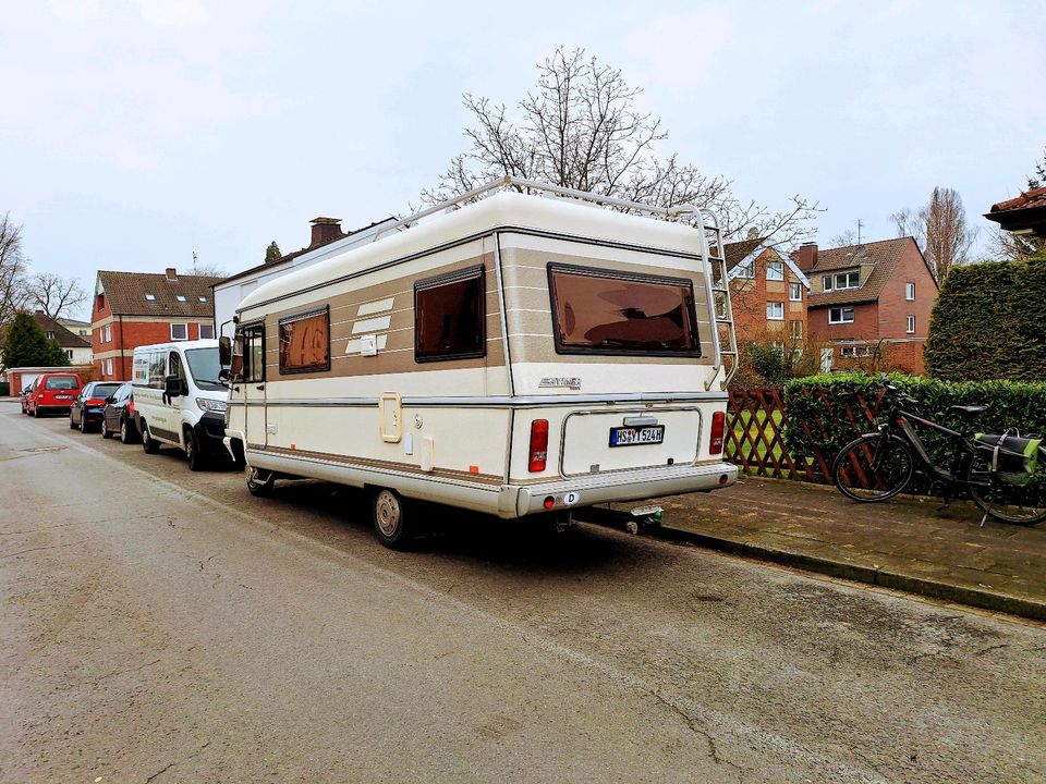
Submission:
M 644 88 L 660 151 L 818 238 L 935 185 L 974 225 L 1046 145 L 1046 1 L 0 3 L 0 213 L 34 271 L 235 272 L 308 220 L 417 203 L 462 151 L 461 95 L 512 103 L 556 47 Z M 85 314 L 86 316 L 87 314 Z

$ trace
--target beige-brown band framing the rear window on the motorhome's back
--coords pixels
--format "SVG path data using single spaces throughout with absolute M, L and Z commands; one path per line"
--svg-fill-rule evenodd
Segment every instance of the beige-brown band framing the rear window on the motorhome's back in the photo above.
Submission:
M 584 245 L 577 246 L 584 250 Z M 662 257 L 648 255 L 646 259 L 657 260 Z M 506 286 L 504 315 L 511 341 L 512 357 L 515 362 L 570 362 L 575 364 L 648 364 L 650 357 L 629 357 L 601 355 L 556 353 L 552 340 L 552 314 L 548 293 L 548 265 L 569 264 L 593 269 L 611 270 L 617 272 L 633 272 L 654 274 L 665 278 L 682 278 L 694 284 L 694 306 L 697 315 L 697 333 L 701 340 L 701 358 L 694 357 L 658 357 L 659 364 L 692 365 L 711 364 L 711 323 L 709 321 L 708 304 L 705 302 L 705 279 L 700 270 L 685 270 L 660 265 L 646 265 L 606 259 L 592 259 L 570 254 L 548 253 L 527 248 L 507 247 L 501 250 L 502 274 Z M 693 262 L 696 265 L 697 262 Z

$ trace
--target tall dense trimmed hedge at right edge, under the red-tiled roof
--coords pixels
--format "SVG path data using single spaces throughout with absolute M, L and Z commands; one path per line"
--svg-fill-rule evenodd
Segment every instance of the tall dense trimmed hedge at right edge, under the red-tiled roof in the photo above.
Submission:
M 927 372 L 942 380 L 1046 379 L 1046 257 L 957 267 L 934 304 Z

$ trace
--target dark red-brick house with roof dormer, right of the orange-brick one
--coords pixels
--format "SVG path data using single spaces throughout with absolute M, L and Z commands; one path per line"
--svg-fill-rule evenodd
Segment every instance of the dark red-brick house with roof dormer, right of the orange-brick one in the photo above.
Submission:
M 822 370 L 868 360 L 922 373 L 923 345 L 937 282 L 912 237 L 794 254 L 811 280 L 810 334 Z

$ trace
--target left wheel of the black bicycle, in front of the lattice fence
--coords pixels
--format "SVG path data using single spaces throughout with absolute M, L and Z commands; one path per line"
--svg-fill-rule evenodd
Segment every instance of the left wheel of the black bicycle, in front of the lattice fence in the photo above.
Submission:
M 886 501 L 903 490 L 915 464 L 901 439 L 880 433 L 862 436 L 842 448 L 831 466 L 836 487 L 862 503 Z

